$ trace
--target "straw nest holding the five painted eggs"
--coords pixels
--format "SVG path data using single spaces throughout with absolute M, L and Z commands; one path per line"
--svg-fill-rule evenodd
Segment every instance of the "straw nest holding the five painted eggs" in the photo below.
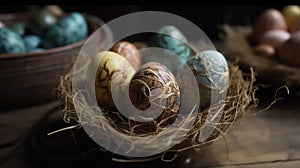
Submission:
M 160 148 L 164 148 L 164 145 L 169 144 L 168 142 L 174 143 L 175 141 L 175 146 L 159 154 L 159 156 L 164 156 L 168 152 L 176 152 L 176 154 L 178 154 L 178 152 L 183 152 L 189 149 L 199 149 L 203 146 L 210 145 L 220 137 L 223 137 L 228 130 L 230 130 L 230 127 L 247 111 L 253 110 L 258 105 L 258 100 L 255 98 L 256 87 L 254 87 L 255 76 L 253 70 L 250 68 L 250 73 L 245 74 L 239 69 L 239 66 L 231 62 L 228 62 L 228 65 L 230 77 L 229 89 L 225 102 L 202 108 L 201 111 L 198 111 L 195 120 L 192 120 L 192 118 L 189 116 L 184 118 L 184 122 L 182 124 L 183 128 L 179 127 L 169 129 L 168 127 L 161 127 L 160 123 L 154 123 L 153 125 L 157 127 L 156 132 L 151 132 L 149 135 L 143 134 L 142 138 L 138 142 L 132 142 L 131 145 L 134 147 L 136 144 L 142 144 L 143 146 L 149 147 L 149 149 L 151 147 L 157 147 L 158 144 L 153 142 L 153 136 L 162 136 L 167 138 L 164 139 L 164 143 L 159 143 Z M 96 116 L 95 114 L 99 112 L 97 111 L 99 108 L 90 107 L 84 100 L 83 95 L 81 95 L 82 93 L 76 93 L 76 96 L 72 96 L 74 95 L 72 94 L 73 74 L 73 71 L 70 70 L 69 73 L 62 76 L 59 85 L 60 98 L 64 104 L 62 113 L 65 122 L 80 125 L 79 123 L 81 123 L 81 117 L 85 117 L 90 118 L 91 122 L 84 124 L 90 124 L 96 128 L 101 128 L 101 130 L 107 131 L 107 134 L 110 134 L 110 129 L 115 129 L 119 132 L 125 132 L 131 137 L 141 136 L 130 131 L 132 127 L 130 127 L 131 123 L 128 123 L 128 120 L 112 119 L 111 117 L 105 117 L 105 115 L 100 117 Z M 74 105 L 77 107 L 76 111 Z M 222 112 L 221 119 L 217 123 L 208 120 L 208 118 L 212 118 L 211 116 L 208 116 L 209 109 L 215 109 Z M 105 111 L 104 109 L 101 109 L 101 112 L 105 114 L 117 114 L 117 112 L 109 112 Z M 118 115 L 114 115 L 114 117 L 118 117 Z M 101 122 L 104 120 L 105 122 Z M 192 127 L 185 135 L 184 140 L 178 141 L 176 139 L 176 133 L 178 133 L 178 131 L 181 129 L 184 129 L 185 126 L 190 124 L 192 121 Z M 200 142 L 199 136 L 201 130 L 203 129 L 204 123 L 213 128 L 213 132 L 208 138 L 205 139 L 205 141 Z M 123 138 L 128 138 L 128 136 L 125 134 L 121 134 L 121 136 L 123 135 Z

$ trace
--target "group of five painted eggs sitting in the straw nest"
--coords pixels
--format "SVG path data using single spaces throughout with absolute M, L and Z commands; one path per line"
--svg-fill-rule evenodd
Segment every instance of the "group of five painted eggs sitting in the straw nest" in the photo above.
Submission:
M 163 26 L 158 32 L 146 42 L 147 46 L 175 53 L 190 67 L 198 83 L 199 90 L 196 92 L 200 94 L 201 108 L 210 103 L 218 103 L 211 102 L 211 95 L 214 91 L 220 94 L 227 92 L 229 68 L 225 57 L 216 50 L 195 53 L 187 44 L 187 38 L 175 26 Z M 134 43 L 119 41 L 110 51 L 101 51 L 94 59 L 91 61 L 92 67 L 95 62 L 99 64 L 96 65 L 98 68 L 92 87 L 95 88 L 96 99 L 101 108 L 117 111 L 112 90 L 120 86 L 129 88 L 130 101 L 138 110 L 147 110 L 151 100 L 165 102 L 161 115 L 153 118 L 157 123 L 176 116 L 184 106 L 181 104 L 181 88 L 172 72 L 162 63 L 145 61 Z

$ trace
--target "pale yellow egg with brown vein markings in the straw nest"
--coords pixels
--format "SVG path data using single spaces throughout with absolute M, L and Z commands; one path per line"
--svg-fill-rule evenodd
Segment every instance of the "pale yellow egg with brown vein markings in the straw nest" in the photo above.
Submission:
M 112 51 L 103 51 L 97 54 L 94 62 L 99 62 L 95 79 L 95 93 L 99 106 L 107 110 L 116 110 L 112 99 L 112 88 L 120 85 L 129 85 L 135 69 L 121 55 Z M 112 81 L 116 86 L 112 86 Z

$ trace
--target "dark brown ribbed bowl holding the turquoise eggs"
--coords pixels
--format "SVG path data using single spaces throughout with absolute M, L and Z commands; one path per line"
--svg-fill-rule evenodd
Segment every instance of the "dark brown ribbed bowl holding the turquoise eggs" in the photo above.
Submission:
M 104 24 L 99 18 L 83 14 L 88 22 L 89 36 Z M 26 21 L 31 13 L 0 14 L 5 25 Z M 105 34 L 103 40 L 105 40 Z M 87 38 L 86 38 L 87 39 Z M 86 39 L 42 52 L 0 54 L 1 108 L 33 105 L 57 99 L 60 75 L 70 70 Z

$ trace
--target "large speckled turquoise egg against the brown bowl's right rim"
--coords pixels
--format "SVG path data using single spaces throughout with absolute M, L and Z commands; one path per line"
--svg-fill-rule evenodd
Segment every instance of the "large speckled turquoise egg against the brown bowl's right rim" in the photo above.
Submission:
M 54 48 L 83 40 L 88 35 L 88 25 L 83 15 L 73 12 L 58 20 L 45 32 L 43 46 Z

